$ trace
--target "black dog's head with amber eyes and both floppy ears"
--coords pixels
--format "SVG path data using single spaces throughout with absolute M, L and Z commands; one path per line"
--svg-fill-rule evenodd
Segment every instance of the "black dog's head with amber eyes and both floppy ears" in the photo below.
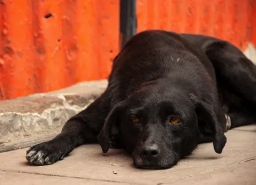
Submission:
M 107 116 L 98 139 L 106 153 L 110 130 L 118 125 L 134 166 L 167 169 L 190 154 L 198 142 L 198 113 L 207 116 L 214 135 L 214 148 L 221 153 L 226 138 L 218 127 L 211 106 L 189 95 L 188 90 L 153 82 L 142 86 Z

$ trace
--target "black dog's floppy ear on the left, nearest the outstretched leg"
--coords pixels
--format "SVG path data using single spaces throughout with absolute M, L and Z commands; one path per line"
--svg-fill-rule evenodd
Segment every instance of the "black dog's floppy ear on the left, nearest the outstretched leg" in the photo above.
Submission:
M 110 110 L 109 115 L 107 115 L 104 125 L 100 131 L 100 134 L 97 136 L 103 153 L 107 153 L 107 151 L 109 151 L 110 132 L 113 125 L 118 122 L 119 117 L 122 114 L 123 106 L 124 102 L 119 102 L 113 107 L 113 109 Z

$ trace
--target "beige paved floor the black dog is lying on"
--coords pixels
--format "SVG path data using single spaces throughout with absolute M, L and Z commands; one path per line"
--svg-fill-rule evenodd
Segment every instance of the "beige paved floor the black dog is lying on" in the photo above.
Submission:
M 222 154 L 212 143 L 200 144 L 187 159 L 168 170 L 140 170 L 122 150 L 103 156 L 100 146 L 78 147 L 63 161 L 30 166 L 25 150 L 0 153 L 0 184 L 256 184 L 256 125 L 226 133 Z M 110 163 L 122 166 L 112 166 Z M 113 171 L 117 174 L 114 174 Z

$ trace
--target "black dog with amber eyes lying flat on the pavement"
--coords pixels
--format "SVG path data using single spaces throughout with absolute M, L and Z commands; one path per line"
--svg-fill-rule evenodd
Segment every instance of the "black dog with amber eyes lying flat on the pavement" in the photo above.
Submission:
M 145 31 L 114 59 L 103 95 L 26 157 L 52 164 L 81 144 L 99 142 L 104 153 L 110 144 L 125 148 L 136 167 L 167 169 L 198 143 L 213 142 L 221 153 L 224 132 L 255 122 L 255 112 L 256 66 L 231 43 Z

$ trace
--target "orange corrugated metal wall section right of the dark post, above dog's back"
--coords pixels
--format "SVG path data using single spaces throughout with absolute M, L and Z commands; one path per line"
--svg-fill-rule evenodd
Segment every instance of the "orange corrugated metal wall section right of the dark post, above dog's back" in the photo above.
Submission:
M 201 33 L 245 49 L 256 18 L 252 8 L 255 14 L 255 0 L 137 0 L 138 31 Z

